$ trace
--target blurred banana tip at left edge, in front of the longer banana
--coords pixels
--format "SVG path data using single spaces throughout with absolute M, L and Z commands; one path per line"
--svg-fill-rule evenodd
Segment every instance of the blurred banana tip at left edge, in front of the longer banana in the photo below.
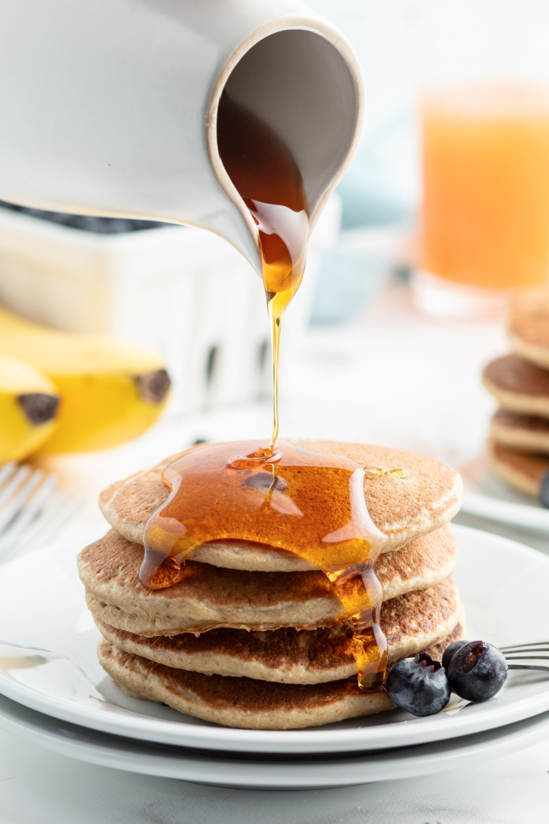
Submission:
M 21 461 L 53 433 L 59 396 L 28 363 L 0 354 L 0 464 Z

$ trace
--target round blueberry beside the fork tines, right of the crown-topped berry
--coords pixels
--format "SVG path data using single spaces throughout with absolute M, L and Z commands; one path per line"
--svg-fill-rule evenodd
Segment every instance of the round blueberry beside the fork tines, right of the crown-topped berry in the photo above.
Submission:
M 507 672 L 507 662 L 497 647 L 485 641 L 469 641 L 454 653 L 448 680 L 460 698 L 487 701 L 505 684 Z

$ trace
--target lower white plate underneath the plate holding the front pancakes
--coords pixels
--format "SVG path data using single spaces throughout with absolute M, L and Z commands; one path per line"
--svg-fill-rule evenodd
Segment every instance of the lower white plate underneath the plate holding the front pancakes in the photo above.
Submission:
M 243 789 L 328 789 L 430 775 L 517 752 L 547 737 L 549 713 L 448 742 L 344 757 L 237 758 L 147 744 L 59 721 L 3 696 L 0 728 L 59 755 L 115 770 Z

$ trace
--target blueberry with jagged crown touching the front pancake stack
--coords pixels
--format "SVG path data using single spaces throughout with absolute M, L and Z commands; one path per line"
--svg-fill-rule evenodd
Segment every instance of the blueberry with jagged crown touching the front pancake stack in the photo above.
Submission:
M 385 686 L 398 707 L 421 717 L 440 712 L 450 700 L 444 667 L 428 653 L 402 658 L 394 664 Z

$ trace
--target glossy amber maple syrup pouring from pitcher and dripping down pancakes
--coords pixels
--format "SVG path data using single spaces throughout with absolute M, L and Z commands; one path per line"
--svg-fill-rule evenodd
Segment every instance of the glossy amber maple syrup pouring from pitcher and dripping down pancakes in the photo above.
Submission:
M 387 666 L 374 574 L 387 539 L 366 508 L 365 471 L 345 456 L 277 442 L 282 321 L 305 269 L 305 187 L 284 144 L 226 93 L 217 122 L 221 161 L 258 226 L 272 333 L 272 438 L 204 444 L 165 469 L 171 492 L 147 523 L 139 577 L 150 589 L 178 583 L 185 558 L 208 541 L 253 541 L 299 555 L 333 583 L 353 622 L 359 685 L 374 690 Z

